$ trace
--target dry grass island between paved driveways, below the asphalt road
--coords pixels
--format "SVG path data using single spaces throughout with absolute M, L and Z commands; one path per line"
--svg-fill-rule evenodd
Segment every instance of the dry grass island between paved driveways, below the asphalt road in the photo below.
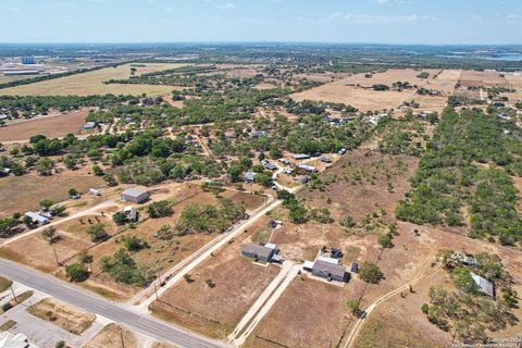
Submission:
M 96 315 L 83 312 L 53 298 L 46 298 L 30 306 L 27 311 L 39 319 L 51 322 L 70 333 L 80 335 L 92 325 Z

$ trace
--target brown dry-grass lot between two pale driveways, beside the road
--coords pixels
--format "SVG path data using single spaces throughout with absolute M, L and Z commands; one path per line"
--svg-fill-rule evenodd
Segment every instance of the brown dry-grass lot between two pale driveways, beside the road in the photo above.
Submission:
M 251 232 L 261 228 L 263 217 L 233 244 L 214 252 L 192 273 L 192 283 L 181 281 L 152 304 L 156 315 L 201 334 L 224 338 L 277 275 L 276 265 L 262 266 L 240 256 Z M 206 281 L 212 279 L 211 288 Z

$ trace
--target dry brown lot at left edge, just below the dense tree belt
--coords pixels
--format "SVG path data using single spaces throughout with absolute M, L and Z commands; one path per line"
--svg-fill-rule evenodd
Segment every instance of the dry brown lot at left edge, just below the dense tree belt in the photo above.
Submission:
M 64 172 L 52 176 L 39 176 L 35 173 L 23 176 L 9 176 L 0 181 L 0 217 L 14 212 L 38 209 L 38 202 L 45 198 L 60 202 L 69 198 L 69 189 L 76 188 L 86 192 L 90 187 L 103 184 L 99 176 L 82 172 Z M 23 192 L 23 195 L 22 195 Z

